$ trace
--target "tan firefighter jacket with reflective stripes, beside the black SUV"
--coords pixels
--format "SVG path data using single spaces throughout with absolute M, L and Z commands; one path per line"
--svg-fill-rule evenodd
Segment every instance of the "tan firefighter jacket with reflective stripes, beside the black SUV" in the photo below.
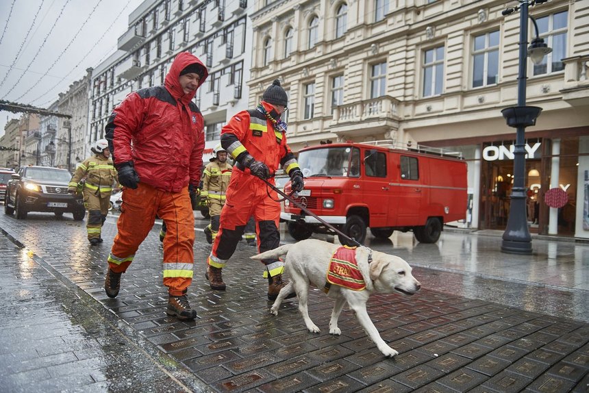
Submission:
M 108 197 L 112 193 L 113 186 L 118 188 L 116 169 L 112 160 L 105 158 L 102 154 L 86 158 L 82 164 L 79 164 L 68 187 L 77 187 L 82 179 L 85 179 L 84 189 L 99 192 L 101 197 Z

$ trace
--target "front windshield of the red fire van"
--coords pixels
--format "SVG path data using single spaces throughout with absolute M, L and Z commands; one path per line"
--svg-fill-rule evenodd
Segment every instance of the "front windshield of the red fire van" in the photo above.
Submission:
M 299 153 L 303 176 L 358 177 L 360 151 L 351 147 L 321 147 Z

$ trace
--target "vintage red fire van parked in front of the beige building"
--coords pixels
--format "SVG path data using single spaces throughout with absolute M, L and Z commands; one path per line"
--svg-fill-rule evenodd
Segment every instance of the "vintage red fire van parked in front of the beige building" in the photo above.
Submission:
M 412 230 L 419 242 L 434 243 L 444 223 L 466 218 L 466 162 L 456 153 L 345 142 L 306 147 L 298 160 L 305 189 L 295 200 L 360 243 L 368 227 L 376 238 Z M 280 218 L 295 240 L 334 233 L 288 200 Z

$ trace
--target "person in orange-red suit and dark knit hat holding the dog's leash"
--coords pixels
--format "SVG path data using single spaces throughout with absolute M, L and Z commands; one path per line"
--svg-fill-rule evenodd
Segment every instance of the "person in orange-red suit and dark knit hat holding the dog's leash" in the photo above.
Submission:
M 221 130 L 221 145 L 236 161 L 227 200 L 221 212 L 221 225 L 207 259 L 207 274 L 214 290 L 225 290 L 221 270 L 233 255 L 251 216 L 255 219 L 260 252 L 279 246 L 280 204 L 277 194 L 268 189 L 272 175 L 281 166 L 292 181 L 292 190 L 303 189 L 303 173 L 286 143 L 286 123 L 281 114 L 288 96 L 280 81 L 264 91 L 262 102 L 254 110 L 233 116 Z M 266 259 L 264 277 L 268 278 L 268 299 L 274 300 L 286 286 L 282 281 L 284 262 Z

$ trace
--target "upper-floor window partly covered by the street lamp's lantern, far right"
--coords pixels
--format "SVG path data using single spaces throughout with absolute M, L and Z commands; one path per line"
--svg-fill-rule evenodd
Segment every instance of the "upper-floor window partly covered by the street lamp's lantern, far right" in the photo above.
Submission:
M 564 70 L 562 59 L 566 58 L 566 21 L 568 11 L 558 12 L 536 19 L 540 38 L 552 48 L 552 53 L 544 56 L 542 64 L 534 65 L 534 75 L 555 73 Z M 536 34 L 532 26 L 533 35 Z M 532 36 L 533 37 L 533 36 Z M 533 38 L 530 38 L 532 40 Z

